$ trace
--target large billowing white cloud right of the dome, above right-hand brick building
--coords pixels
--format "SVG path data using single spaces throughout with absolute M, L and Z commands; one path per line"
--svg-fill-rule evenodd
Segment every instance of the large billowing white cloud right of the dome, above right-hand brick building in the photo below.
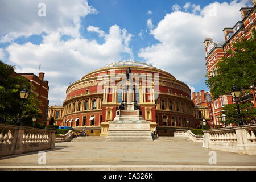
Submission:
M 224 40 L 223 28 L 232 27 L 241 20 L 238 10 L 246 7 L 247 2 L 214 2 L 203 9 L 195 5 L 191 13 L 167 13 L 150 31 L 159 43 L 142 48 L 138 56 L 148 64 L 170 72 L 177 80 L 196 84 L 207 72 L 204 39 Z M 211 10 L 216 11 L 216 16 L 209 13 Z

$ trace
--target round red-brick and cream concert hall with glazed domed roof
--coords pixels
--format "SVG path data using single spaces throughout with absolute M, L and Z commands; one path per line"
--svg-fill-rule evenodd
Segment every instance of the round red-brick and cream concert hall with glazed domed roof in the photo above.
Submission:
M 53 110 L 49 110 L 48 119 L 56 118 L 58 112 L 59 126 L 86 129 L 88 135 L 108 135 L 109 121 L 115 118 L 125 98 L 120 83 L 126 78 L 127 68 L 131 69 L 135 82 L 134 101 L 137 100 L 143 117 L 150 121 L 151 131 L 156 127 L 159 136 L 173 136 L 174 131 L 200 126 L 191 90 L 186 84 L 166 71 L 134 61 L 108 64 L 73 82 L 67 88 L 63 106 L 55 110 L 50 106 Z

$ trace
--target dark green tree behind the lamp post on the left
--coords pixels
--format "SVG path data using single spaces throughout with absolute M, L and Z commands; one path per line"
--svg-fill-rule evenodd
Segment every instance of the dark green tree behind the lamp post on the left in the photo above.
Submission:
M 35 90 L 35 87 L 23 76 L 15 76 L 14 66 L 7 65 L 0 61 L 0 123 L 14 125 L 18 121 L 20 104 L 22 100 L 19 92 L 24 90 L 25 86 L 28 91 Z M 39 109 L 42 102 L 34 92 L 24 100 L 21 115 L 21 124 L 23 126 L 32 126 L 32 117 L 42 117 Z

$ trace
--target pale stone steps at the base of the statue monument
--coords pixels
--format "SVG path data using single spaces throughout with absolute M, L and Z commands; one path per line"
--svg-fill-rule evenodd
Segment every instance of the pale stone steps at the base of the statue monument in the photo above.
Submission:
M 152 141 L 150 130 L 143 129 L 109 129 L 106 141 Z

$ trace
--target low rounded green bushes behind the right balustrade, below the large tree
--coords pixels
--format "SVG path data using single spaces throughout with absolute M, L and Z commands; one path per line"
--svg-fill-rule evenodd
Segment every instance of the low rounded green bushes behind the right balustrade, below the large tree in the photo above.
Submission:
M 251 103 L 243 103 L 239 105 L 242 121 L 246 124 L 255 121 L 256 119 L 256 108 Z M 222 108 L 222 114 L 226 115 L 226 124 L 238 125 L 238 112 L 235 104 L 227 104 Z M 221 115 L 222 115 L 221 114 Z M 221 118 L 220 118 L 221 119 Z M 223 123 L 222 119 L 220 123 Z

